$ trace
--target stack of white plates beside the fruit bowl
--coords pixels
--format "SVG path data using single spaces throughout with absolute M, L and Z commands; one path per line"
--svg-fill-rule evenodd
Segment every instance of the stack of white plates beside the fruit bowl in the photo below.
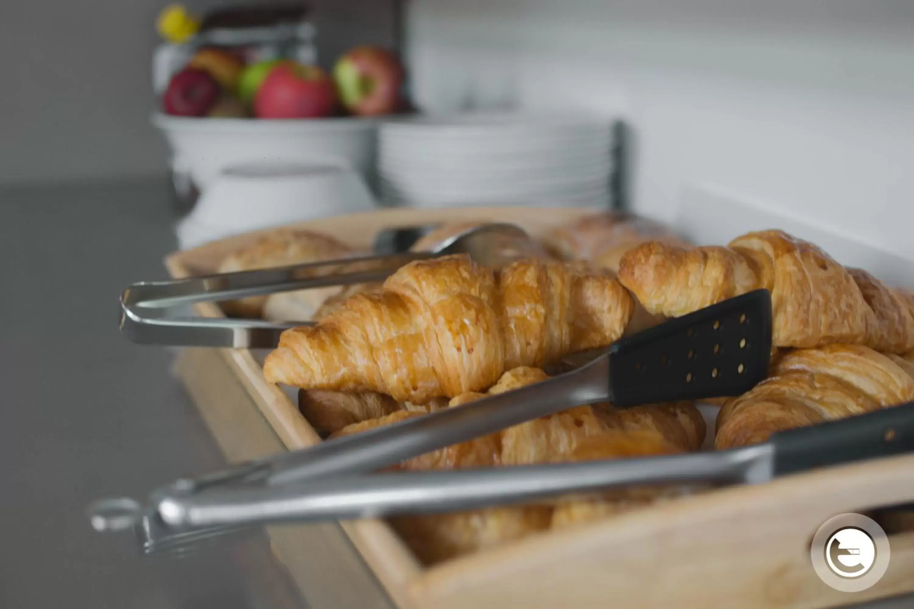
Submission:
M 589 116 L 473 113 L 381 125 L 387 205 L 609 204 L 610 121 Z

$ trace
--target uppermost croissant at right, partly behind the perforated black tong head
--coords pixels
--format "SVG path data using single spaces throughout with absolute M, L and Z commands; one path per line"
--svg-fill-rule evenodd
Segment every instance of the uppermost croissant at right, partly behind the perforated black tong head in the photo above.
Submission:
M 739 236 L 728 247 L 646 243 L 622 257 L 619 279 L 645 309 L 669 317 L 769 289 L 778 347 L 914 348 L 914 299 L 779 230 Z

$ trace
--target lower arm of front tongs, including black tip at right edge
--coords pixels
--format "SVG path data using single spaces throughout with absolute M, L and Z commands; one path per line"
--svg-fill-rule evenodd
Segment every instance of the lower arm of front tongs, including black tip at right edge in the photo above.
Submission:
M 171 531 L 481 509 L 632 484 L 760 483 L 814 467 L 914 451 L 914 403 L 775 433 L 760 445 L 687 455 L 396 472 L 158 499 Z M 210 529 L 211 530 L 211 529 Z

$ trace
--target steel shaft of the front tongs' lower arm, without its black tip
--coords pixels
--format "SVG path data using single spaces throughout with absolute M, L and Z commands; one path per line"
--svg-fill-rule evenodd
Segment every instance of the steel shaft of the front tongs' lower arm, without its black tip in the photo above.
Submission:
M 771 455 L 770 445 L 760 445 L 585 463 L 356 475 L 269 489 L 218 488 L 164 497 L 157 513 L 166 527 L 180 529 L 482 509 L 632 484 L 760 482 L 771 477 Z M 767 476 L 752 475 L 760 468 Z

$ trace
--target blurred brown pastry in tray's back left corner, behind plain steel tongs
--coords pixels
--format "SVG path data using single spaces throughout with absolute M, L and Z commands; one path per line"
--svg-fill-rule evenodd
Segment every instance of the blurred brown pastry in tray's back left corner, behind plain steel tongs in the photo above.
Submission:
M 317 262 L 333 258 L 354 256 L 351 247 L 345 246 L 332 236 L 298 228 L 279 228 L 271 231 L 248 247 L 242 247 L 226 257 L 218 267 L 219 273 L 231 273 L 255 268 L 284 267 L 306 262 Z M 311 310 L 316 309 L 324 298 L 336 288 L 305 290 L 305 298 Z M 267 296 L 251 296 L 245 299 L 223 302 L 222 308 L 229 315 L 239 317 L 260 317 Z M 288 298 L 288 297 L 286 297 Z M 307 310 L 307 309 L 305 309 Z M 300 320 L 311 319 L 310 315 L 296 312 Z M 292 320 L 295 320 L 293 317 Z

